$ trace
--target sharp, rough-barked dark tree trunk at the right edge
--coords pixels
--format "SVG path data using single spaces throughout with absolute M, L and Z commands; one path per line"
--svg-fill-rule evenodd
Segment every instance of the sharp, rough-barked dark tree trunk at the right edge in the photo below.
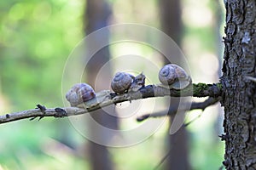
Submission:
M 256 169 L 255 0 L 227 0 L 223 83 L 226 169 Z

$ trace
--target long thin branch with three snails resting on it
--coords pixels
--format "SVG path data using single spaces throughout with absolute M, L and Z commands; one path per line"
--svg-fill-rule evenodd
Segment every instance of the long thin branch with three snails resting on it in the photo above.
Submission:
M 218 98 L 221 95 L 221 84 L 191 84 L 189 87 L 184 88 L 183 90 L 167 89 L 160 86 L 148 85 L 143 88 L 140 88 L 137 92 L 130 92 L 127 94 L 115 94 L 115 93 L 106 93 L 104 99 L 93 99 L 88 103 L 84 104 L 84 108 L 78 107 L 66 107 L 66 108 L 45 108 L 42 105 L 38 105 L 38 108 L 28 110 L 28 111 L 19 111 L 15 113 L 5 114 L 0 116 L 0 124 L 5 122 L 13 122 L 20 119 L 26 118 L 36 118 L 40 117 L 41 119 L 44 116 L 54 116 L 54 117 L 64 117 L 64 116 L 76 116 L 90 111 L 96 111 L 102 107 L 118 104 L 124 101 L 131 101 L 136 99 L 145 99 L 152 97 L 163 97 L 163 96 L 172 96 L 172 97 L 185 97 L 185 96 L 194 96 L 194 97 L 212 97 Z M 106 91 L 104 91 L 105 93 Z M 101 93 L 101 92 L 99 92 Z M 104 94 L 103 93 L 103 94 Z

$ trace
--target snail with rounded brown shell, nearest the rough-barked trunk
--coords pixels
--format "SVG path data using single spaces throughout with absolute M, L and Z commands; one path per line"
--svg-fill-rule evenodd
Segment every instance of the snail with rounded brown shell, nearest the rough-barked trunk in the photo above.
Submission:
M 191 78 L 182 67 L 174 64 L 165 65 L 159 72 L 159 80 L 164 86 L 183 89 L 189 86 Z

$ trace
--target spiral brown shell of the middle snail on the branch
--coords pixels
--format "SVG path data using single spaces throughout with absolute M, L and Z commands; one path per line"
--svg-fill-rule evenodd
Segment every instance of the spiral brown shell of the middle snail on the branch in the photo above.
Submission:
M 111 82 L 111 88 L 117 94 L 125 94 L 131 87 L 134 77 L 126 72 L 117 72 Z

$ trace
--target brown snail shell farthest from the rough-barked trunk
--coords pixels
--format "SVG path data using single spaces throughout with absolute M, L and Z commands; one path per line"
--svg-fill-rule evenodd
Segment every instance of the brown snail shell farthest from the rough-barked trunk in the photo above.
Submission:
M 96 97 L 96 93 L 89 84 L 78 83 L 67 92 L 66 99 L 71 106 L 78 106 Z

